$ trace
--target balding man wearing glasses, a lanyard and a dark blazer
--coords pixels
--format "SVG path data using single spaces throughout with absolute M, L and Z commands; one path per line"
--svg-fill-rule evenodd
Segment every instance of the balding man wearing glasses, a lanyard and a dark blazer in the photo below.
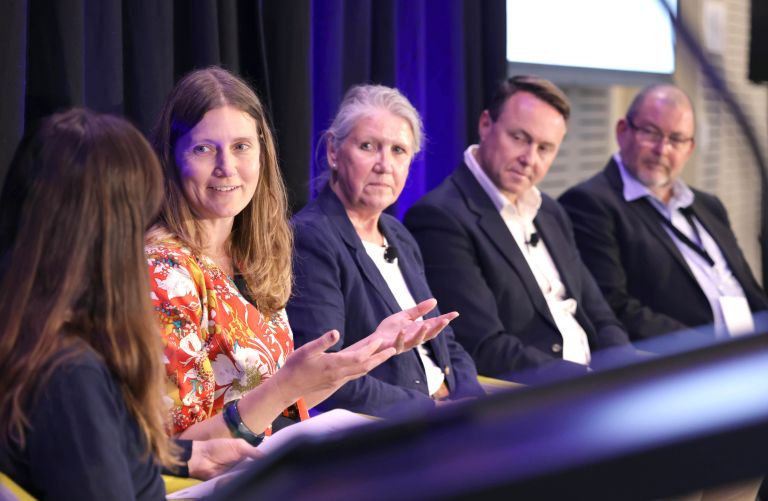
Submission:
M 694 115 L 673 85 L 641 91 L 616 124 L 619 151 L 560 203 L 581 257 L 633 340 L 714 324 L 751 330 L 768 309 L 714 195 L 680 174 L 693 152 Z

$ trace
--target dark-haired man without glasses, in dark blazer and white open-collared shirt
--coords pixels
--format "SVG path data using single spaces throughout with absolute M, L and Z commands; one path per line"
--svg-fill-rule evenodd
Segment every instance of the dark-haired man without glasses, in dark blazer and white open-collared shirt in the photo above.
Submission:
M 461 314 L 456 339 L 480 374 L 562 360 L 584 368 L 592 351 L 629 343 L 579 258 L 567 215 L 535 187 L 569 113 L 551 82 L 503 82 L 480 116 L 479 145 L 405 216 L 441 307 Z

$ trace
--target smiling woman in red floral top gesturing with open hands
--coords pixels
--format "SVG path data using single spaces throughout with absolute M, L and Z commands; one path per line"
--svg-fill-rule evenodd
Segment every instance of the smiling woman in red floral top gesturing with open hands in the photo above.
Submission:
M 166 194 L 146 252 L 181 437 L 231 434 L 257 443 L 278 415 L 305 419 L 308 406 L 453 318 L 413 320 L 434 308 L 428 300 L 342 351 L 325 352 L 339 340 L 330 331 L 293 352 L 284 310 L 292 233 L 254 92 L 220 68 L 190 73 L 168 97 L 153 143 Z

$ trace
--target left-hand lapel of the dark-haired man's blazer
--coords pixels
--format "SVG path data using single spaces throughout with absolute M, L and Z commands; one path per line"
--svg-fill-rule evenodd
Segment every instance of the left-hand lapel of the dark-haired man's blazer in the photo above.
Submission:
M 528 262 L 520 251 L 520 247 L 518 247 L 517 242 L 515 242 L 514 237 L 509 232 L 509 228 L 504 223 L 488 194 L 483 190 L 466 165 L 462 164 L 459 166 L 453 176 L 454 184 L 464 196 L 467 208 L 477 216 L 478 227 L 488 237 L 491 245 L 496 247 L 499 253 L 504 256 L 510 268 L 520 278 L 536 311 L 555 326 L 555 320 L 549 311 L 549 306 L 546 299 L 544 299 L 544 294 L 541 292 L 541 287 L 536 282 L 536 278 L 533 276 Z

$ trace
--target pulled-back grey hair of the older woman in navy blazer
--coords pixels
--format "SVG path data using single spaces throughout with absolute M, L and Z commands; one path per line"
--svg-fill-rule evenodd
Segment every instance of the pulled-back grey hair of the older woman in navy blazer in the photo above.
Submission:
M 413 134 L 414 156 L 421 151 L 424 125 L 419 112 L 399 90 L 384 85 L 356 85 L 347 91 L 331 126 L 323 134 L 326 145 L 333 144 L 338 150 L 357 121 L 377 109 L 387 110 L 408 122 Z

